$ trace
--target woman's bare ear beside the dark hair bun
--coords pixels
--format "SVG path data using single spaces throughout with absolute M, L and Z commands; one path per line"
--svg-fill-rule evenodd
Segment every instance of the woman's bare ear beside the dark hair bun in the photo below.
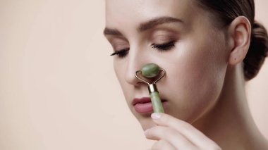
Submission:
M 248 18 L 239 16 L 229 25 L 231 51 L 228 63 L 236 65 L 243 61 L 250 47 L 251 25 Z

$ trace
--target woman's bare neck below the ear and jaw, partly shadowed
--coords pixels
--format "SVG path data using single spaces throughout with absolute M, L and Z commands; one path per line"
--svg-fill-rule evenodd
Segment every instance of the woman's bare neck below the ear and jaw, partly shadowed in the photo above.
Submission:
M 268 148 L 251 117 L 241 65 L 229 67 L 215 106 L 193 125 L 222 149 Z

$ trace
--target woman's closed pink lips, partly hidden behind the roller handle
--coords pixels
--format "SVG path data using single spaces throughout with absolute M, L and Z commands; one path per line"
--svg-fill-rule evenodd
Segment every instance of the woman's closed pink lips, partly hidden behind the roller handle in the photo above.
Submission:
M 162 103 L 166 100 L 162 99 Z M 150 97 L 135 98 L 132 101 L 135 111 L 138 113 L 151 113 L 153 111 L 152 102 Z

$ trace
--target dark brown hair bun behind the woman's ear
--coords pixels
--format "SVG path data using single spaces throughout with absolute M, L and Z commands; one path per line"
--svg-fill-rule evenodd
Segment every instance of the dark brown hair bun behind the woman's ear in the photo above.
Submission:
M 250 80 L 259 73 L 265 58 L 268 56 L 267 30 L 260 23 L 252 25 L 251 42 L 248 54 L 243 60 L 245 80 Z

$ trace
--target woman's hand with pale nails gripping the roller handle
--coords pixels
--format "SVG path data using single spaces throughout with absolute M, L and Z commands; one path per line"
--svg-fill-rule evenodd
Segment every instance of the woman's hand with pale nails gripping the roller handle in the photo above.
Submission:
M 157 126 L 147 129 L 145 136 L 147 139 L 157 140 L 152 150 L 221 149 L 214 141 L 183 120 L 165 113 L 152 113 L 151 117 Z

